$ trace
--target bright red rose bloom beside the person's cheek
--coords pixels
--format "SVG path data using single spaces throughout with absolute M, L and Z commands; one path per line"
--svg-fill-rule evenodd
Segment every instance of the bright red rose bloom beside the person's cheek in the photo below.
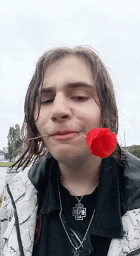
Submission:
M 87 145 L 91 154 L 105 158 L 111 155 L 116 148 L 116 135 L 109 132 L 109 128 L 94 128 L 87 133 Z

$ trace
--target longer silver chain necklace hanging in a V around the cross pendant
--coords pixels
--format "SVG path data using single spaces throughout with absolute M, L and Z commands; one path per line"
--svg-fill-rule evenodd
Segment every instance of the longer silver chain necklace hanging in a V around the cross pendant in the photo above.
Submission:
M 59 187 L 59 183 L 58 183 L 58 187 Z M 82 197 L 83 197 L 83 196 L 82 196 Z M 83 240 L 80 242 L 80 246 L 75 247 L 75 246 L 73 245 L 73 242 L 71 241 L 71 238 L 69 237 L 69 234 L 67 233 L 66 227 L 64 226 L 64 223 L 63 223 L 63 221 L 62 221 L 62 217 L 61 217 L 61 213 L 62 213 L 62 202 L 61 202 L 61 198 L 60 198 L 60 188 L 59 188 L 59 201 L 60 201 L 60 213 L 59 213 L 60 221 L 62 222 L 62 225 L 63 225 L 63 227 L 64 227 L 64 230 L 65 230 L 66 234 L 67 234 L 67 237 L 68 237 L 68 239 L 69 239 L 69 242 L 71 243 L 71 245 L 72 245 L 73 248 L 74 248 L 74 256 L 76 256 L 76 255 L 77 255 L 77 256 L 80 256 L 80 253 L 78 252 L 78 250 L 80 249 L 81 245 L 83 245 L 83 242 L 85 241 L 85 238 L 86 238 L 86 236 L 87 236 L 88 230 L 89 230 L 90 225 L 91 225 L 91 223 L 92 223 L 92 220 L 93 220 L 93 218 L 94 218 L 95 209 L 94 209 L 94 213 L 92 214 L 92 218 L 91 218 L 90 223 L 89 223 L 89 225 L 88 225 L 87 231 L 85 232 L 85 236 L 83 237 Z

